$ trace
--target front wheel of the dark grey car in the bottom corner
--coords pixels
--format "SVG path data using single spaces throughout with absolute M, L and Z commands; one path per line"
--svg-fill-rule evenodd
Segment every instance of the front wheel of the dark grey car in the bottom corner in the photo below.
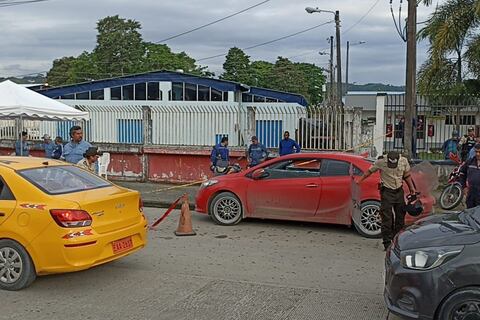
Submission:
M 455 292 L 442 303 L 438 320 L 480 320 L 480 288 L 469 287 Z

